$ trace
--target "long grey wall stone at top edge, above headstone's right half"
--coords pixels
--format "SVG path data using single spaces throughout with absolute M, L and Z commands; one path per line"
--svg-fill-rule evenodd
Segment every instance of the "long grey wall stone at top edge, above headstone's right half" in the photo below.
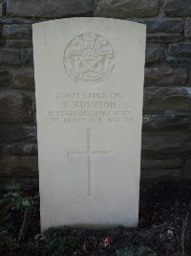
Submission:
M 103 0 L 97 5 L 99 17 L 154 17 L 159 13 L 159 0 Z

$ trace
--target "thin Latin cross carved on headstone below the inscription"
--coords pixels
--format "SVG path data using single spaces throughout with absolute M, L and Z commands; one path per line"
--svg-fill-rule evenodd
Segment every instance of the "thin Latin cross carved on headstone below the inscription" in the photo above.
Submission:
M 112 155 L 112 151 L 93 151 L 92 128 L 87 128 L 87 150 L 86 151 L 68 151 L 68 157 L 87 157 L 88 169 L 88 198 L 93 198 L 93 157 L 94 155 L 108 156 Z

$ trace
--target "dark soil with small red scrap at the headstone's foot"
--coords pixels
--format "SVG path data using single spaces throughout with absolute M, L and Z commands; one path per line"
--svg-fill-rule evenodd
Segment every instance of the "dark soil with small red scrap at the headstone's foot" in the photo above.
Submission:
M 27 222 L 21 241 L 24 246 L 40 232 L 38 215 Z M 66 255 L 191 256 L 191 184 L 141 186 L 137 228 L 71 228 L 69 233 L 75 245 Z

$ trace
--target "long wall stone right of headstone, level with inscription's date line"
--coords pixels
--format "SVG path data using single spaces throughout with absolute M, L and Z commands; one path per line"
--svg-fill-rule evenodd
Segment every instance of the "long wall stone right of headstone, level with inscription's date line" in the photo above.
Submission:
M 144 115 L 143 131 L 191 130 L 191 115 Z

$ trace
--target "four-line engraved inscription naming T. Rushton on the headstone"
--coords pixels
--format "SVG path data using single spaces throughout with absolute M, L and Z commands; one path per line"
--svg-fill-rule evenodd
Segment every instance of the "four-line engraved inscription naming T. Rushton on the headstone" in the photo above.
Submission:
M 56 92 L 59 106 L 49 109 L 47 123 L 121 124 L 134 122 L 132 109 L 121 108 L 126 96 L 121 92 Z

